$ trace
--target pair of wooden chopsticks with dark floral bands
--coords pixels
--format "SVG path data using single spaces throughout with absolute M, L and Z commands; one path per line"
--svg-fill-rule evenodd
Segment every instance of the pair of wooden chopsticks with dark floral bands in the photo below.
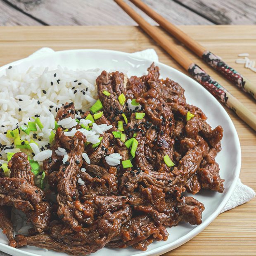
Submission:
M 169 53 L 183 68 L 190 73 L 201 85 L 211 92 L 218 100 L 235 111 L 245 123 L 256 131 L 256 115 L 254 115 L 249 109 L 247 109 L 241 102 L 239 102 L 228 90 L 221 86 L 217 81 L 213 80 L 203 69 L 195 64 L 190 58 L 188 58 L 181 50 L 176 47 L 175 43 L 172 43 L 168 38 L 163 36 L 159 30 L 151 26 L 145 21 L 137 12 L 133 10 L 123 0 L 114 0 L 137 24 L 149 35 L 156 43 L 158 43 L 166 52 Z M 144 4 L 141 0 L 130 0 L 133 4 L 144 11 L 149 17 L 154 19 L 159 25 L 170 32 L 175 38 L 187 45 L 193 52 L 199 57 L 204 59 L 208 64 L 213 66 L 217 71 L 220 71 L 230 81 L 235 83 L 242 90 L 250 93 L 256 98 L 256 88 L 244 77 L 242 77 L 237 71 L 230 68 L 225 62 L 223 62 L 218 56 L 206 50 L 199 43 L 187 36 L 179 28 L 175 27 L 169 21 L 161 17 Z

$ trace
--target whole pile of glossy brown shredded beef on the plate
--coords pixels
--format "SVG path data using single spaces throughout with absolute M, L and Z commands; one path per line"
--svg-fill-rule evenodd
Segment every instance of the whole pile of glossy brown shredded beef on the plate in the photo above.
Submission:
M 25 153 L 12 156 L 10 177 L 4 177 L 0 169 L 0 228 L 9 245 L 77 256 L 105 246 L 144 251 L 154 241 L 166 241 L 167 228 L 183 221 L 191 225 L 202 222 L 204 205 L 184 197 L 183 192 L 223 192 L 224 180 L 215 160 L 223 129 L 212 129 L 203 111 L 187 104 L 184 89 L 159 76 L 154 63 L 147 75 L 128 80 L 119 71 L 102 71 L 96 85 L 103 114 L 95 123 L 112 128 L 100 135 L 99 145 L 86 142 L 80 131 L 68 137 L 63 127 L 57 128 L 50 146 L 52 156 L 43 161 L 48 183 L 45 191 L 35 185 Z M 137 102 L 133 109 L 128 98 Z M 78 118 L 78 112 L 72 102 L 66 103 L 55 120 Z M 95 113 L 82 111 L 81 118 L 88 114 Z M 78 123 L 76 129 L 81 126 Z M 65 163 L 55 152 L 59 147 L 68 154 Z M 109 165 L 106 156 L 112 153 L 120 154 L 120 164 Z M 124 160 L 130 160 L 132 166 L 125 168 Z M 26 213 L 32 222 L 34 228 L 27 236 L 14 237 L 11 207 Z

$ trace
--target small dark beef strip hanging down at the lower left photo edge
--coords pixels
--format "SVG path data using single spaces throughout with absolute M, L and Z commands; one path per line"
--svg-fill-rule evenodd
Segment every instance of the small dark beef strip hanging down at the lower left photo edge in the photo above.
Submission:
M 14 228 L 11 220 L 11 207 L 0 206 L 0 228 L 9 240 L 9 246 L 16 247 L 13 232 Z

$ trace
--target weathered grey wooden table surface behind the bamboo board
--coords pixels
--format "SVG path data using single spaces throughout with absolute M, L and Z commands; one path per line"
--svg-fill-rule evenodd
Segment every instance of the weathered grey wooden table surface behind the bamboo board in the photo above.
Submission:
M 156 23 L 134 7 L 150 24 Z M 176 25 L 256 24 L 256 0 L 142 0 Z M 114 0 L 0 0 L 0 26 L 136 25 Z

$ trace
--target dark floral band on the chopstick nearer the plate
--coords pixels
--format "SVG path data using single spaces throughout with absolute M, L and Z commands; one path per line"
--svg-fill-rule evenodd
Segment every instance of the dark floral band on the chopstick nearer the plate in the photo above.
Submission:
M 190 64 L 188 72 L 193 76 L 201 85 L 204 86 L 211 94 L 219 99 L 224 104 L 227 104 L 228 96 L 227 91 L 218 82 L 213 80 L 203 69 L 201 69 L 197 64 Z M 229 106 L 228 106 L 229 107 Z

